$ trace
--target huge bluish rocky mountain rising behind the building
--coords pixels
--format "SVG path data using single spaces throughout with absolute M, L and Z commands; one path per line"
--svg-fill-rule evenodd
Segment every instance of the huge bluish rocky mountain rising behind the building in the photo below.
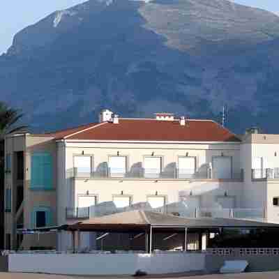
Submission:
M 279 17 L 225 0 L 90 0 L 17 33 L 0 99 L 34 130 L 174 112 L 279 133 Z M 75 116 L 75 117 L 73 117 Z

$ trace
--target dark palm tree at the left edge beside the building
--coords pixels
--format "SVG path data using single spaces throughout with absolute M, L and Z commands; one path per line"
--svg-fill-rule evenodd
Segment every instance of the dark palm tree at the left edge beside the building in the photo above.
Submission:
M 3 248 L 3 212 L 4 212 L 4 172 L 5 172 L 5 136 L 10 133 L 22 132 L 27 126 L 17 126 L 17 121 L 22 118 L 20 110 L 8 107 L 0 102 L 0 248 Z

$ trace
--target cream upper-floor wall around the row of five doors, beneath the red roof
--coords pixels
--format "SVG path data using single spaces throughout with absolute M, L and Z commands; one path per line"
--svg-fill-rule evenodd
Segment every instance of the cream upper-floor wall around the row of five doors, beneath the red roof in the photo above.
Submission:
M 66 142 L 66 167 L 73 169 L 73 156 L 89 154 L 94 156 L 94 167 L 108 161 L 109 156 L 127 156 L 128 169 L 136 163 L 143 163 L 144 156 L 163 156 L 163 169 L 170 163 L 178 163 L 179 156 L 197 158 L 197 169 L 212 162 L 212 156 L 232 156 L 233 172 L 240 172 L 240 144 L 123 144 L 123 143 L 73 143 Z M 144 167 L 144 165 L 143 165 Z

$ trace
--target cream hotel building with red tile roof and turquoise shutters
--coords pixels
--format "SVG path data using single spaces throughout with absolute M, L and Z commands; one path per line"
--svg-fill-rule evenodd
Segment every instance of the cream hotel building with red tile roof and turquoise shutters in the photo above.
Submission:
M 6 248 L 66 249 L 66 236 L 18 228 L 140 208 L 279 222 L 279 135 L 241 137 L 210 120 L 123 119 L 6 137 Z M 83 241 L 89 241 L 84 236 Z

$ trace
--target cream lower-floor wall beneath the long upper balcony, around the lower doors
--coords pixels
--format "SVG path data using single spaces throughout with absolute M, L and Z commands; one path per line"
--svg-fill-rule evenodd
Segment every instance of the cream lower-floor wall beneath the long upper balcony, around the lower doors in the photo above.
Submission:
M 241 207 L 242 182 L 219 181 L 160 181 L 132 180 L 123 181 L 103 180 L 75 180 L 75 200 L 80 194 L 98 195 L 98 202 L 112 201 L 113 195 L 131 195 L 133 203 L 146 202 L 148 195 L 165 195 L 167 203 L 179 202 L 179 197 L 188 197 L 190 191 L 193 196 L 200 196 L 201 206 L 206 208 L 216 207 L 217 197 L 234 196 L 236 207 Z M 75 204 L 77 206 L 77 204 Z

